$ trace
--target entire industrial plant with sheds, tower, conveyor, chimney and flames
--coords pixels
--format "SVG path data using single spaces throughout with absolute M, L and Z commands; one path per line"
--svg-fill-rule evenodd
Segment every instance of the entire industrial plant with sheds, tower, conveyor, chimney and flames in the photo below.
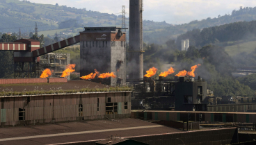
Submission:
M 122 27 L 84 27 L 48 46 L 0 43 L 15 66 L 0 79 L 0 144 L 255 144 L 256 99 L 214 96 L 200 64 L 144 71 L 143 0 L 129 0 L 129 49 L 122 10 Z M 70 54 L 54 53 L 74 44 L 79 80 L 70 80 L 79 65 Z

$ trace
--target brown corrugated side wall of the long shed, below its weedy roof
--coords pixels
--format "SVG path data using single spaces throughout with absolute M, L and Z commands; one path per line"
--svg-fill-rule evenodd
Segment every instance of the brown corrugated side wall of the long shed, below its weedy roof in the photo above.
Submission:
M 118 103 L 118 114 L 106 115 L 108 97 L 111 97 L 111 102 Z M 130 92 L 5 97 L 0 103 L 1 126 L 129 117 L 130 98 Z M 125 102 L 128 102 L 127 109 Z M 81 116 L 79 105 L 83 105 Z M 19 108 L 25 109 L 25 121 L 19 120 Z

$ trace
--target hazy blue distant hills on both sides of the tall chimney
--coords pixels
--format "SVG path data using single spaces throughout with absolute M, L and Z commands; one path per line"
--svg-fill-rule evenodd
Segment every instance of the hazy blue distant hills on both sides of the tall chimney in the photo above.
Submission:
M 35 22 L 38 23 L 39 34 L 76 35 L 84 26 L 121 26 L 121 8 L 115 14 L 107 14 L 90 10 L 90 8 L 71 8 L 68 6 L 47 5 L 19 0 L 0 0 L 0 32 L 33 32 Z M 231 13 L 231 12 L 230 12 Z M 144 41 L 164 44 L 178 35 L 211 26 L 220 26 L 231 22 L 256 20 L 255 8 L 233 10 L 231 15 L 219 15 L 216 18 L 195 20 L 189 24 L 173 25 L 166 22 L 144 20 Z M 127 16 L 126 26 L 129 26 Z M 129 30 L 128 30 L 129 32 Z

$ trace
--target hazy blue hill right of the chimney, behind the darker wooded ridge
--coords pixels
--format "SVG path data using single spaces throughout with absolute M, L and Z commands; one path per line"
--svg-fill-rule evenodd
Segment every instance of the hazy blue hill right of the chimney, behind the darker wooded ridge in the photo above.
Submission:
M 144 40 L 145 42 L 164 44 L 169 39 L 175 39 L 178 35 L 186 33 L 187 31 L 193 31 L 194 29 L 198 29 L 196 31 L 200 32 L 203 28 L 208 28 L 212 26 L 221 26 L 225 24 L 230 24 L 232 22 L 244 22 L 244 21 L 250 22 L 253 20 L 256 20 L 256 7 L 240 8 L 239 10 L 233 10 L 232 15 L 223 15 L 223 16 L 218 15 L 218 17 L 214 17 L 214 18 L 208 17 L 207 19 L 202 19 L 201 21 L 195 20 L 190 22 L 189 24 L 180 24 L 176 26 L 170 26 L 167 28 L 163 28 L 161 30 L 152 30 L 150 32 L 146 31 L 144 34 Z M 236 28 L 232 28 L 232 30 L 236 31 Z M 236 32 L 233 32 L 233 33 L 236 33 Z M 212 35 L 211 32 L 208 33 L 208 35 Z M 191 37 L 196 37 L 196 39 L 201 38 L 201 37 L 198 37 L 198 35 L 192 35 Z M 208 36 L 202 37 L 202 38 L 207 39 L 207 37 Z M 215 40 L 209 40 L 209 41 L 214 42 Z M 201 46 L 203 45 L 201 44 Z

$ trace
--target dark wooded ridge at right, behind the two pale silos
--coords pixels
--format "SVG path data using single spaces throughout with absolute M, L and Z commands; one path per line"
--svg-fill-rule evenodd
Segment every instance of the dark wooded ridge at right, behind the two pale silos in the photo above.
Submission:
M 241 40 L 256 40 L 256 21 L 234 22 L 221 26 L 194 29 L 177 37 L 177 45 L 181 40 L 189 39 L 191 46 L 205 46 L 205 44 L 221 44 L 224 46 Z

